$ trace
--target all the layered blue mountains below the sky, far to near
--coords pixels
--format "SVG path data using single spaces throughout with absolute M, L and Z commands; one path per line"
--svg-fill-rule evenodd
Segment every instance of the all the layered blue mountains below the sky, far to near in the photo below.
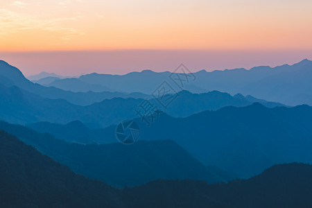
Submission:
M 289 107 L 312 104 L 311 73 L 309 60 L 202 70 L 181 91 L 168 71 L 31 82 L 0 61 L 0 207 L 312 207 L 312 107 Z M 128 119 L 131 145 L 116 139 Z

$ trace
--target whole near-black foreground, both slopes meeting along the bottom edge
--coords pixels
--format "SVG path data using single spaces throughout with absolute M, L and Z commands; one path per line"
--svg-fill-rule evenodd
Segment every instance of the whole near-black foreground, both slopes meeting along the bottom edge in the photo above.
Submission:
M 272 166 L 249 180 L 156 180 L 114 189 L 0 131 L 1 207 L 311 207 L 312 166 Z

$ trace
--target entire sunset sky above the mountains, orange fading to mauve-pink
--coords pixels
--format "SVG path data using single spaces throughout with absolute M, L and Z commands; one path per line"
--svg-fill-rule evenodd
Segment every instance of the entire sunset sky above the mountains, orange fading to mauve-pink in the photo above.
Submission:
M 78 53 L 79 57 L 87 54 L 99 61 L 97 68 L 88 62 L 89 58 L 80 64 L 84 69 L 71 66 L 64 71 L 61 67 L 62 73 L 69 74 L 92 70 L 125 73 L 143 67 L 162 70 L 173 67 L 175 62 L 192 64 L 186 58 L 200 51 L 210 55 L 215 51 L 214 60 L 223 63 L 202 60 L 193 66 L 196 69 L 295 62 L 312 58 L 311 11 L 311 0 L 1 0 L 0 59 L 8 59 L 28 74 L 49 71 L 51 63 L 58 69 L 61 64 L 71 65 L 64 58 L 55 59 L 55 54 L 68 55 L 69 60 Z M 144 64 L 132 64 L 128 69 L 120 61 L 116 63 L 115 60 L 128 57 L 125 53 L 133 56 L 132 51 L 136 51 L 137 59 L 148 53 L 149 59 L 154 60 L 141 60 Z M 189 51 L 189 56 L 185 51 Z M 103 58 L 106 63 L 92 58 L 92 54 L 100 52 L 110 54 Z M 248 55 L 254 62 L 232 64 L 236 53 L 263 55 L 263 60 L 259 62 L 258 57 Z M 274 53 L 277 60 L 268 57 L 268 53 Z M 285 53 L 291 60 L 278 58 Z M 34 54 L 44 58 L 36 60 Z M 183 55 L 179 58 L 180 54 Z M 37 61 L 33 62 L 33 69 L 26 57 L 28 62 Z M 126 58 L 119 60 L 129 62 Z M 155 64 L 155 59 L 168 62 L 168 66 Z M 62 62 L 56 64 L 55 60 Z M 86 68 L 88 64 L 90 67 Z

